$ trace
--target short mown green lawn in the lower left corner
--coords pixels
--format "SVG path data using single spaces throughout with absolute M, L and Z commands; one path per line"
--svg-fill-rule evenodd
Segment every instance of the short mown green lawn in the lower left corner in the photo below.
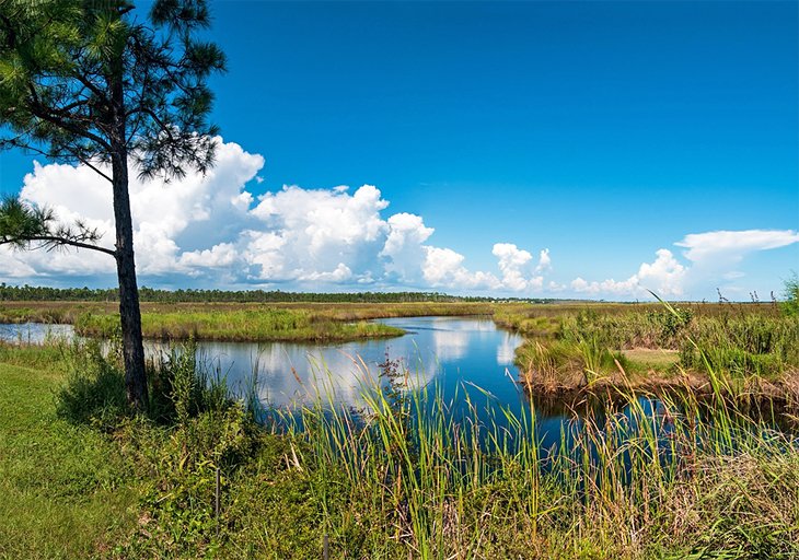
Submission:
M 118 446 L 56 418 L 61 380 L 0 363 L 0 558 L 105 557 L 137 523 Z

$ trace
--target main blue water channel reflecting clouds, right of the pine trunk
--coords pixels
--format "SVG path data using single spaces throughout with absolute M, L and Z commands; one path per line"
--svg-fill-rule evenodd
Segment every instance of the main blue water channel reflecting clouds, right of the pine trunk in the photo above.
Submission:
M 201 342 L 200 359 L 227 375 L 236 390 L 258 372 L 258 396 L 277 407 L 308 404 L 333 389 L 337 402 L 359 407 L 364 385 L 379 381 L 386 358 L 409 371 L 413 386 L 435 383 L 444 396 L 475 384 L 503 402 L 523 399 L 516 383 L 518 335 L 488 318 L 410 317 L 381 319 L 408 334 L 390 339 L 334 345 Z M 148 343 L 149 351 L 163 349 Z M 477 392 L 475 392 L 477 393 Z

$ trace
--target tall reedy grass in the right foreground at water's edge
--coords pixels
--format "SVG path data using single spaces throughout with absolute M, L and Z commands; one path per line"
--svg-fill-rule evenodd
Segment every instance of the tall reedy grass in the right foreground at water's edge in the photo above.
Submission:
M 366 523 L 380 520 L 354 551 L 351 520 L 334 504 L 323 508 L 341 553 L 799 553 L 798 442 L 744 415 L 721 387 L 710 408 L 691 393 L 626 392 L 621 405 L 605 400 L 602 415 L 575 417 L 552 450 L 541 447 L 532 406 L 518 415 L 499 404 L 486 411 L 465 388 L 445 401 L 429 386 L 397 400 L 374 381 L 364 381 L 362 395 L 366 410 L 328 398 L 275 424 L 306 444 L 294 468 L 336 480 Z M 459 408 L 466 410 L 460 418 Z

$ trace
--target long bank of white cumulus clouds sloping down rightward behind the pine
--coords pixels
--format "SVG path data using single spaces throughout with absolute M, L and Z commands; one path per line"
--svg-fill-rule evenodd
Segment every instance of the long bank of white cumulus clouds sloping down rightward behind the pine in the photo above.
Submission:
M 172 180 L 139 180 L 130 170 L 130 199 L 137 269 L 159 284 L 181 278 L 208 285 L 278 285 L 324 289 L 323 284 L 402 285 L 447 290 L 541 289 L 530 273 L 532 256 L 497 244 L 501 280 L 472 270 L 465 257 L 429 243 L 435 230 L 420 215 L 384 217 L 389 202 L 372 185 L 351 189 L 285 186 L 254 197 L 264 159 L 218 139 L 217 165 L 206 175 L 188 172 Z M 107 171 L 107 170 L 106 170 Z M 107 182 L 84 166 L 34 164 L 21 191 L 25 200 L 51 208 L 63 222 L 82 219 L 111 246 L 114 217 Z M 548 265 L 542 252 L 540 267 Z M 12 253 L 0 247 L 0 279 L 106 275 L 114 264 L 93 252 Z M 322 284 L 322 285 L 321 285 Z

